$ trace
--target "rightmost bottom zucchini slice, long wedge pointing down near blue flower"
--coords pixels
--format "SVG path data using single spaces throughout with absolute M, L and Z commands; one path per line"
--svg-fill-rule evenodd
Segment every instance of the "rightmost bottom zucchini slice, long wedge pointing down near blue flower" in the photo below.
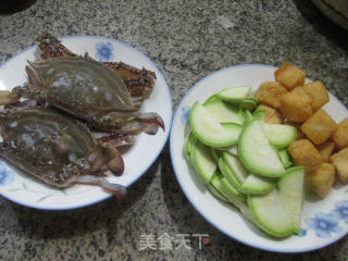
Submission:
M 304 169 L 295 166 L 288 169 L 279 179 L 278 195 L 288 216 L 293 221 L 296 233 L 300 233 L 303 199 Z

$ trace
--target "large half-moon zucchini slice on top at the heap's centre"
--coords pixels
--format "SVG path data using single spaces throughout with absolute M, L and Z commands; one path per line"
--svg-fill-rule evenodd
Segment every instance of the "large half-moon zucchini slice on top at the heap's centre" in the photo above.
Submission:
M 245 167 L 262 176 L 279 177 L 285 169 L 262 128 L 261 121 L 253 120 L 244 127 L 238 142 L 239 159 Z

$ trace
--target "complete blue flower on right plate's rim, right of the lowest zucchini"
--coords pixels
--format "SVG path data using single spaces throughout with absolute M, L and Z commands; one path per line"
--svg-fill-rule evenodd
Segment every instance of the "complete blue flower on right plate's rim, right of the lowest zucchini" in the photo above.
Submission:
M 313 229 L 321 238 L 330 238 L 332 233 L 340 233 L 339 219 L 331 213 L 318 212 L 314 217 L 304 220 L 309 229 Z

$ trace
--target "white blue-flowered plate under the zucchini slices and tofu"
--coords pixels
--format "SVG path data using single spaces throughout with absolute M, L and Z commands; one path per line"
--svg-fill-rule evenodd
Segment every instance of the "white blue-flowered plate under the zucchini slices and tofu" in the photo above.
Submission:
M 307 200 L 301 234 L 274 239 L 244 219 L 235 208 L 214 198 L 192 172 L 183 152 L 185 137 L 189 132 L 188 113 L 195 101 L 203 102 L 212 94 L 227 87 L 247 85 L 256 89 L 264 80 L 274 80 L 274 66 L 261 64 L 238 65 L 220 70 L 199 80 L 184 97 L 173 120 L 170 138 L 172 164 L 191 204 L 209 223 L 227 236 L 269 251 L 310 251 L 327 246 L 348 233 L 348 186 L 335 187 L 324 200 Z M 333 119 L 338 122 L 348 116 L 344 104 L 334 96 L 330 97 L 331 101 L 325 110 Z

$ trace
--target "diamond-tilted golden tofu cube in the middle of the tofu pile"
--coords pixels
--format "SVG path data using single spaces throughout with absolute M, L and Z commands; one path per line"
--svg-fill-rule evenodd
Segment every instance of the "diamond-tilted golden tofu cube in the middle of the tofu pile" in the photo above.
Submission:
M 336 132 L 337 123 L 320 109 L 302 124 L 301 129 L 311 141 L 320 145 Z

